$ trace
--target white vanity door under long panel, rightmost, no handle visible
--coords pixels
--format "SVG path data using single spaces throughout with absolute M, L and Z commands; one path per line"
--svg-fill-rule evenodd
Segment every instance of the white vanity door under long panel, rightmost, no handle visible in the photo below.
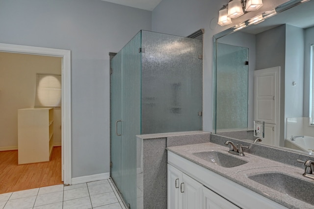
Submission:
M 202 209 L 240 209 L 225 198 L 203 186 Z

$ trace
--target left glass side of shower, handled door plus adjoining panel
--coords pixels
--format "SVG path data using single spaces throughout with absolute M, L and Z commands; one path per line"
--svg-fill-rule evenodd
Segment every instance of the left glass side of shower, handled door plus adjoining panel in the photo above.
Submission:
M 111 61 L 111 177 L 136 209 L 136 135 L 141 134 L 141 34 Z

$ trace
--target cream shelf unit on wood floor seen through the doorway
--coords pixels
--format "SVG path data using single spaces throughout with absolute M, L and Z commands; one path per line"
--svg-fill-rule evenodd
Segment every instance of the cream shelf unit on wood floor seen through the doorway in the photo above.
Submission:
M 18 163 L 50 160 L 53 146 L 53 108 L 18 110 Z

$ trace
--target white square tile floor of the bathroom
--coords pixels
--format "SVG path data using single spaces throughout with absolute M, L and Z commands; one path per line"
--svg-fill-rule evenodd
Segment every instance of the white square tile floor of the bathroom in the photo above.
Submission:
M 102 180 L 0 194 L 0 209 L 126 209 L 111 183 Z

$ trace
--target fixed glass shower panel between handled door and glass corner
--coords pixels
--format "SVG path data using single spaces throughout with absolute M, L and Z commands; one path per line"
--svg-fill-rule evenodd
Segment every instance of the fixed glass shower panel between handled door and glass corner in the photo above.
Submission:
M 131 209 L 136 209 L 136 135 L 141 134 L 141 33 L 122 49 L 122 186 Z

